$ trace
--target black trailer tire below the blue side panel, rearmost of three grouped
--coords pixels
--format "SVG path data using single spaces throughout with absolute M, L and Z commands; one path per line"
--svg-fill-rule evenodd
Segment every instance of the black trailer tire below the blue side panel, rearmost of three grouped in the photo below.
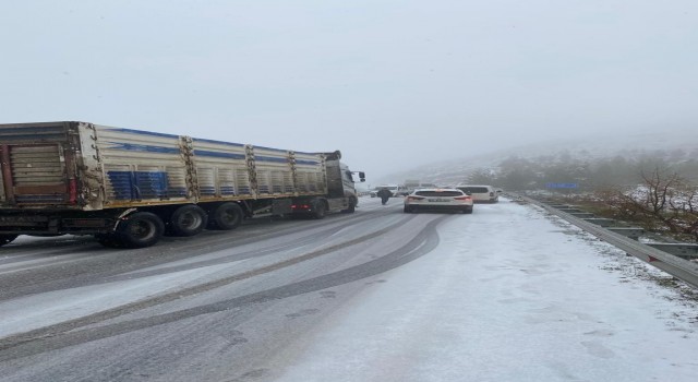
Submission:
M 117 227 L 118 240 L 123 242 L 125 248 L 151 247 L 160 240 L 164 231 L 163 219 L 149 212 L 129 215 Z

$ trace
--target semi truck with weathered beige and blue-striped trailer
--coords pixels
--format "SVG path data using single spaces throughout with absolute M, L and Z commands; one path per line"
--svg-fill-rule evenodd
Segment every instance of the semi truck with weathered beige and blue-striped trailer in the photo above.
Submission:
M 94 235 L 144 248 L 243 219 L 353 213 L 341 153 L 304 153 L 81 121 L 0 124 L 0 246 Z

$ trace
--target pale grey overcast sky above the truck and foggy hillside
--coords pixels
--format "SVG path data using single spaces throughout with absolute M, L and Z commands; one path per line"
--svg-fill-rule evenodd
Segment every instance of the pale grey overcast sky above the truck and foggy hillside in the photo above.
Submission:
M 341 150 L 374 179 L 698 130 L 696 0 L 3 1 L 0 45 L 0 123 Z

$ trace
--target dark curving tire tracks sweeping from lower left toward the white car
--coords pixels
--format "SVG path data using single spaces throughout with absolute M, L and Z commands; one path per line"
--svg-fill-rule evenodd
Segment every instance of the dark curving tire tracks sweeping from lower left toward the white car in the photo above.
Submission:
M 412 215 L 413 216 L 413 215 Z M 383 230 L 356 238 L 345 243 L 339 243 L 326 249 L 306 253 L 303 256 L 294 258 L 281 263 L 262 267 L 260 270 L 250 271 L 248 273 L 231 276 L 220 280 L 207 283 L 185 290 L 179 290 L 169 295 L 159 296 L 152 299 L 137 301 L 131 305 L 110 309 L 81 319 L 59 323 L 41 327 L 35 331 L 21 333 L 0 339 L 0 361 L 27 357 L 55 349 L 69 346 L 80 345 L 101 338 L 112 337 L 151 326 L 167 324 L 202 314 L 210 314 L 226 310 L 241 309 L 248 305 L 263 303 L 272 300 L 284 299 L 297 295 L 318 291 L 329 287 L 352 283 L 362 278 L 375 276 L 377 274 L 390 271 L 400 265 L 409 263 L 432 251 L 438 244 L 438 234 L 436 226 L 447 219 L 449 215 L 440 216 L 429 222 L 410 241 L 402 247 L 369 262 L 313 277 L 310 279 L 287 284 L 284 286 L 236 297 L 232 299 L 218 301 L 195 308 L 183 309 L 170 313 L 154 315 L 144 319 L 135 319 L 99 327 L 81 329 L 87 325 L 94 325 L 101 321 L 115 319 L 124 314 L 129 314 L 142 309 L 173 301 L 182 296 L 192 296 L 195 294 L 212 290 L 218 287 L 229 285 L 231 283 L 254 277 L 264 273 L 276 271 L 280 267 L 290 266 L 302 261 L 314 259 L 326 253 L 330 253 L 341 248 L 350 247 L 364 242 L 366 240 L 380 237 L 390 229 L 395 229 L 400 222 L 384 228 Z

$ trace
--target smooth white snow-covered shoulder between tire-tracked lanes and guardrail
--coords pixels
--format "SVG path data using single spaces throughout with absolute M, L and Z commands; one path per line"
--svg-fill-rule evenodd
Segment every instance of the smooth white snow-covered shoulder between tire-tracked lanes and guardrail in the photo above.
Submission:
M 698 308 L 663 274 L 504 200 L 270 360 L 279 381 L 698 381 Z

